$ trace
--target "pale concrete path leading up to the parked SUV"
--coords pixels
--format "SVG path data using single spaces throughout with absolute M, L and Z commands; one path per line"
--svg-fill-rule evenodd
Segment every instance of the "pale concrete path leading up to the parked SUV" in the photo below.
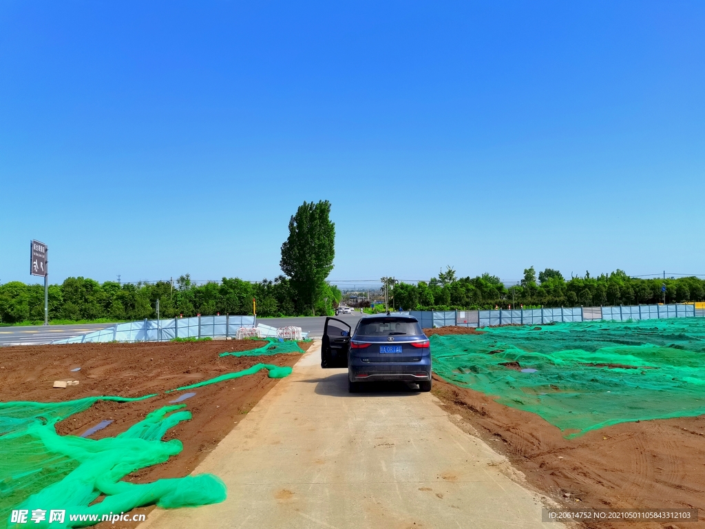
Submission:
M 539 495 L 435 399 L 348 394 L 346 370 L 320 368 L 317 341 L 197 468 L 228 499 L 155 509 L 140 529 L 545 529 Z

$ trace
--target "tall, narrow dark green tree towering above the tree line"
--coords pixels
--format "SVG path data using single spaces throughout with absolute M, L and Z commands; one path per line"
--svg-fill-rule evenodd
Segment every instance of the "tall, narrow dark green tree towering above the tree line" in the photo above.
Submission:
M 290 278 L 302 308 L 314 315 L 336 255 L 336 227 L 330 213 L 328 200 L 304 202 L 291 217 L 289 236 L 281 245 L 281 270 Z

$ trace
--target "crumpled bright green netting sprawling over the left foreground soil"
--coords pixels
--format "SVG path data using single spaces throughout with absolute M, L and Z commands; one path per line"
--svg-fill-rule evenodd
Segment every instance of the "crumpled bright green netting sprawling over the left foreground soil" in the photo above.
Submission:
M 257 364 L 178 390 L 252 375 L 262 369 L 269 370 L 272 378 L 291 373 L 291 367 Z M 179 411 L 185 407 L 183 404 L 159 408 L 116 437 L 95 440 L 56 433 L 56 422 L 87 410 L 97 401 L 130 402 L 152 396 L 0 403 L 0 521 L 7 524 L 0 522 L 0 526 L 23 527 L 24 524 L 10 523 L 11 511 L 18 509 L 29 513 L 35 509 L 47 511 L 46 519 L 32 523 L 32 527 L 59 528 L 96 523 L 71 521 L 71 514 L 97 514 L 100 519 L 104 514 L 119 514 L 142 505 L 173 509 L 223 501 L 226 487 L 210 474 L 140 485 L 122 481 L 125 475 L 164 463 L 180 453 L 183 446 L 178 439 L 164 442 L 161 438 L 179 422 L 190 420 L 190 412 Z M 101 501 L 92 504 L 99 497 Z M 66 510 L 63 523 L 48 523 L 51 509 Z

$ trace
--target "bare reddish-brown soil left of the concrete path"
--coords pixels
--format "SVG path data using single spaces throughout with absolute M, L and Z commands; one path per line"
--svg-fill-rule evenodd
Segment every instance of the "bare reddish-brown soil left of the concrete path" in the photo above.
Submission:
M 264 341 L 232 340 L 184 343 L 82 343 L 58 346 L 3 348 L 0 360 L 0 401 L 56 402 L 87 396 L 136 397 L 157 393 L 152 399 L 132 403 L 99 401 L 90 409 L 57 423 L 59 434 L 80 435 L 102 420 L 114 420 L 91 439 L 113 437 L 139 422 L 147 413 L 168 406 L 185 391 L 164 394 L 168 389 L 252 367 L 257 363 L 294 365 L 300 354 L 225 356 L 225 351 L 247 351 Z M 299 345 L 307 350 L 311 342 Z M 80 371 L 71 372 L 74 367 Z M 78 386 L 54 389 L 55 380 L 78 380 Z M 180 439 L 183 451 L 166 463 L 144 468 L 125 477 L 131 482 L 188 475 L 212 451 L 240 419 L 276 384 L 262 371 L 189 391 L 196 395 L 183 401 L 192 419 L 169 430 L 164 440 Z M 152 507 L 134 509 L 148 513 Z M 97 528 L 133 528 L 137 523 L 100 523 Z

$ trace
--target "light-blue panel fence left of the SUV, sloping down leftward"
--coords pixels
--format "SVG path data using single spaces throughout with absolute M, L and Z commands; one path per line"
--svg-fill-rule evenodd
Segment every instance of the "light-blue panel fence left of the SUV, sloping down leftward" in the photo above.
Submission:
M 171 320 L 117 323 L 106 329 L 51 343 L 106 341 L 168 341 L 175 338 L 215 338 L 238 334 L 240 327 L 255 327 L 255 316 L 197 316 Z

